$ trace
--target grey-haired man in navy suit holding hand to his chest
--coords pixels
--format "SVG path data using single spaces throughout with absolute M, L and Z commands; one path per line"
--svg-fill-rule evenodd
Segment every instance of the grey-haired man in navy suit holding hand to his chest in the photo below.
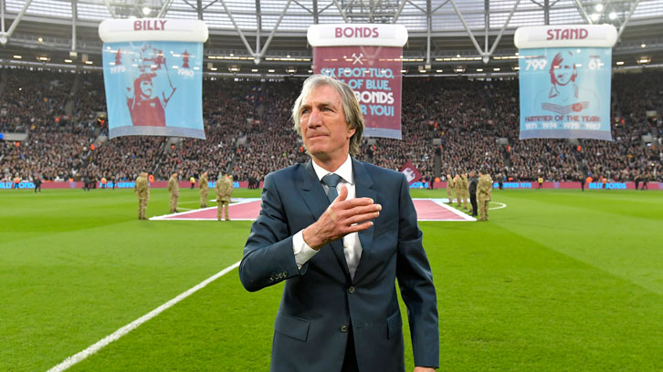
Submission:
M 396 279 L 415 371 L 433 371 L 437 297 L 405 176 L 351 156 L 363 117 L 346 84 L 308 78 L 292 118 L 311 160 L 267 176 L 239 266 L 248 291 L 286 281 L 271 371 L 405 371 Z

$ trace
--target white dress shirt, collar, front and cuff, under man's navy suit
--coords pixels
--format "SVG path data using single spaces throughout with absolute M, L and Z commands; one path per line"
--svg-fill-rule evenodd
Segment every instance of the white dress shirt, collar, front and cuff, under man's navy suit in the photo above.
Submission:
M 354 177 L 353 177 L 353 160 L 348 155 L 348 158 L 342 163 L 341 167 L 338 170 L 330 172 L 322 169 L 321 166 L 311 161 L 313 163 L 313 170 L 315 171 L 318 180 L 321 181 L 322 177 L 327 174 L 337 174 L 341 176 L 341 181 L 336 185 L 336 191 L 341 193 L 341 186 L 345 185 L 348 189 L 348 197 L 345 200 L 351 200 L 355 197 L 354 191 Z M 325 185 L 322 182 L 322 187 L 324 188 L 325 193 L 329 191 L 329 186 Z M 354 277 L 354 272 L 357 271 L 357 266 L 359 265 L 359 260 L 362 258 L 362 243 L 359 241 L 358 233 L 349 233 L 343 236 L 343 253 L 345 254 L 345 262 L 348 263 L 348 269 L 350 270 L 350 276 Z M 310 248 L 309 244 L 304 242 L 304 235 L 302 231 L 296 233 L 292 237 L 292 250 L 295 253 L 295 262 L 297 267 L 301 268 L 304 263 L 307 263 L 316 253 L 316 251 Z

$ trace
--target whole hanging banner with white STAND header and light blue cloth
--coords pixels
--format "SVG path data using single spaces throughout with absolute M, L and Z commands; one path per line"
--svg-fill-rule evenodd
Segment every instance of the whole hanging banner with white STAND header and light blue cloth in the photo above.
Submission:
M 610 77 L 616 39 L 610 25 L 516 30 L 521 140 L 612 140 Z

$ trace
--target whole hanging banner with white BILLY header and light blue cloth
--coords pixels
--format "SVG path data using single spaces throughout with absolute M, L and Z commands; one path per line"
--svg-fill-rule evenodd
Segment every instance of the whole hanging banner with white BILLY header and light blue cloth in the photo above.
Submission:
M 142 18 L 101 22 L 109 137 L 205 139 L 200 20 Z

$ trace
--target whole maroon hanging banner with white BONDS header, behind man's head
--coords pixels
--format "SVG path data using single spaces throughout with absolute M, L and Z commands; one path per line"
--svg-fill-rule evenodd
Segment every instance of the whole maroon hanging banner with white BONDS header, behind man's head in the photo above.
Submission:
M 313 71 L 353 88 L 365 137 L 401 140 L 401 68 L 407 29 L 400 25 L 313 25 Z

